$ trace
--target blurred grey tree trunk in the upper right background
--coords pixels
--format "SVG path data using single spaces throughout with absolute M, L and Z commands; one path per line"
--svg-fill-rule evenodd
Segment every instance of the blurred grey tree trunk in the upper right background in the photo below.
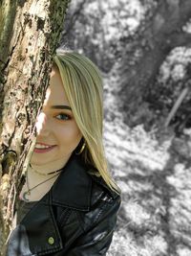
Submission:
M 121 89 L 118 91 L 120 107 L 127 115 L 126 122 L 135 116 L 148 88 L 153 86 L 159 67 L 167 55 L 176 47 L 190 46 L 191 34 L 182 27 L 191 18 L 190 0 L 160 0 L 156 11 L 144 20 L 144 31 L 134 38 L 134 49 L 138 51 L 138 60 L 130 63 L 135 51 L 124 53 L 120 66 Z M 134 124 L 135 125 L 135 124 Z

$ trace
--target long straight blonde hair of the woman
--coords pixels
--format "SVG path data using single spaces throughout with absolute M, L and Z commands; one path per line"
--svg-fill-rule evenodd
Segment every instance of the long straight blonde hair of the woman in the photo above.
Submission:
M 74 119 L 86 143 L 82 156 L 93 165 L 106 184 L 120 193 L 112 179 L 105 157 L 102 137 L 103 87 L 96 65 L 85 56 L 57 50 L 53 62 L 58 67 Z

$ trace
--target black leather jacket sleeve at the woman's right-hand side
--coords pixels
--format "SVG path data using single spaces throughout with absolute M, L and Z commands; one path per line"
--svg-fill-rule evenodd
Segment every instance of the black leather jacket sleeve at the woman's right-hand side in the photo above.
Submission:
M 96 221 L 84 230 L 74 246 L 64 256 L 104 256 L 112 242 L 117 222 L 120 197 L 107 202 L 96 214 Z

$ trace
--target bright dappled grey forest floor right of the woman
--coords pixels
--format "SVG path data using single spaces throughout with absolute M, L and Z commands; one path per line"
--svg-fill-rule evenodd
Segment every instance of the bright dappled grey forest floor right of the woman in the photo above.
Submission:
M 122 192 L 117 229 L 107 255 L 191 256 L 188 141 L 169 130 L 146 132 L 143 125 L 128 128 L 112 95 L 106 105 L 110 110 L 104 123 L 105 148 Z

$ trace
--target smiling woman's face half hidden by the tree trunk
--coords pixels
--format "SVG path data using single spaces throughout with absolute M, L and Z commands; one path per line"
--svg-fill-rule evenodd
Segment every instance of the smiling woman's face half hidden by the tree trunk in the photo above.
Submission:
M 49 170 L 62 168 L 78 145 L 82 135 L 66 98 L 57 69 L 53 69 L 43 109 L 36 122 L 36 144 L 32 152 L 32 167 Z M 42 145 L 49 147 L 41 149 Z

